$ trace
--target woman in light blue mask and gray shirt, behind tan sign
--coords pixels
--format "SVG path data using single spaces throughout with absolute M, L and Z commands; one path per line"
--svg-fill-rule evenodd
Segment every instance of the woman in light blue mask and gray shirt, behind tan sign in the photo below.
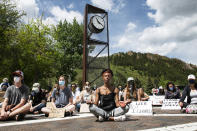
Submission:
M 73 96 L 71 90 L 66 87 L 65 77 L 59 77 L 59 86 L 55 88 L 52 92 L 52 106 L 53 108 L 64 108 L 65 114 L 71 115 L 75 110 L 73 105 Z M 46 114 L 46 116 L 51 112 L 50 108 L 42 108 L 41 110 Z

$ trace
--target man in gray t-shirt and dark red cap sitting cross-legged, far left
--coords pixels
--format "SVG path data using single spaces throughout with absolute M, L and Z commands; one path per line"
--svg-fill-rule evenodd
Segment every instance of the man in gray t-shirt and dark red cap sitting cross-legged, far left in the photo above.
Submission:
M 15 118 L 22 120 L 29 111 L 31 104 L 27 103 L 29 89 L 23 84 L 24 74 L 22 71 L 15 71 L 14 85 L 9 86 L 4 95 L 2 108 L 0 109 L 0 120 Z

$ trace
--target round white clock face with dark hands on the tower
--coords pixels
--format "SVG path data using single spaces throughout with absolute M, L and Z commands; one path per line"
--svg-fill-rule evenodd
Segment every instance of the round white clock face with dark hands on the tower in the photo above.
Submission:
M 101 16 L 94 16 L 92 19 L 92 24 L 99 30 L 104 29 L 105 27 L 105 21 Z

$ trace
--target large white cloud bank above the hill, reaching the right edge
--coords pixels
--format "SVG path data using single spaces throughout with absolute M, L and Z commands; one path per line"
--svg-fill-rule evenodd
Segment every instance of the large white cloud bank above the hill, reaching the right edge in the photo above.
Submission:
M 125 33 L 112 47 L 172 56 L 197 64 L 197 1 L 147 0 L 147 5 L 155 10 L 147 15 L 157 25 L 136 32 L 132 22 L 128 23 Z

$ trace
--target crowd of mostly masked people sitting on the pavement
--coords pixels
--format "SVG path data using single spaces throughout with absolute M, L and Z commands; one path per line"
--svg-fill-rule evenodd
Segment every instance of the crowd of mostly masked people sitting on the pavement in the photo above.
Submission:
M 4 87 L 3 85 L 8 87 L 1 88 L 5 90 L 5 94 L 0 108 L 0 120 L 21 120 L 27 113 L 44 113 L 48 116 L 52 110 L 46 105 L 47 102 L 51 102 L 53 108 L 64 109 L 65 116 L 72 115 L 74 111 L 79 112 L 81 104 L 88 104 L 90 112 L 98 118 L 98 121 L 124 121 L 131 102 L 149 99 L 143 88 L 136 88 L 133 77 L 127 79 L 125 88 L 121 85 L 118 88 L 114 87 L 111 83 L 113 72 L 110 69 L 105 69 L 101 73 L 104 85 L 95 91 L 89 82 L 85 83 L 82 91 L 77 84 L 71 84 L 69 88 L 65 76 L 60 76 L 52 90 L 51 87 L 49 90 L 43 90 L 39 83 L 34 83 L 32 91 L 29 92 L 29 88 L 24 84 L 24 73 L 17 70 L 12 75 L 13 85 L 9 85 L 7 78 L 1 83 L 1 87 Z M 192 74 L 188 76 L 188 86 L 182 93 L 173 82 L 168 82 L 165 90 L 160 86 L 158 89 L 153 88 L 152 92 L 154 95 L 165 96 L 165 99 L 180 99 L 181 109 L 187 108 L 188 105 L 197 105 L 195 79 Z

